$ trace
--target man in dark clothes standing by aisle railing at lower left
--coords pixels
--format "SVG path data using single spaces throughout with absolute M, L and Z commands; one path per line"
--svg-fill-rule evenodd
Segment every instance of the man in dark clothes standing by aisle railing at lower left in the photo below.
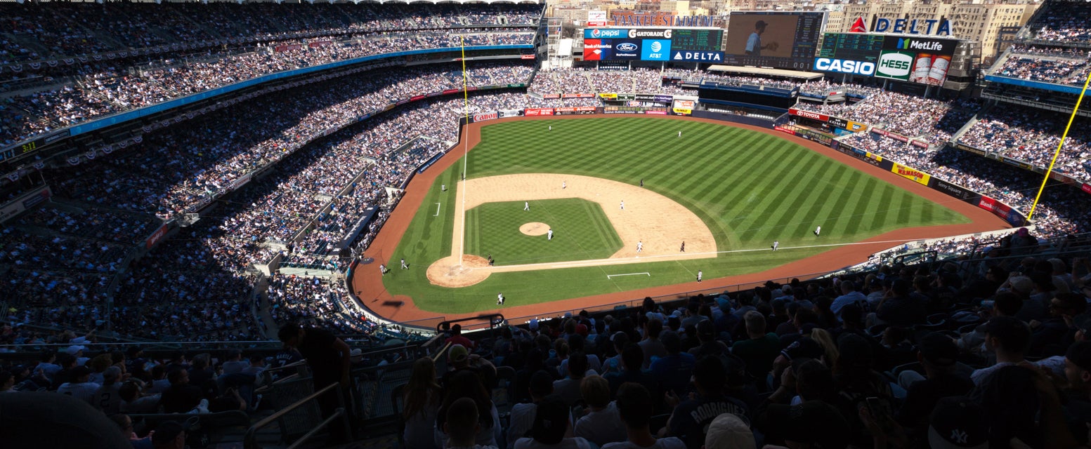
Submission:
M 351 350 L 348 344 L 329 330 L 314 327 L 300 328 L 296 324 L 281 326 L 277 337 L 286 345 L 299 349 L 299 353 L 307 359 L 307 364 L 311 367 L 311 373 L 314 376 L 315 391 L 329 385 L 340 384 L 343 399 L 348 398 L 348 371 L 352 364 Z M 340 403 L 335 390 L 319 398 L 319 406 L 325 417 L 332 415 L 340 406 Z M 347 404 L 347 400 L 344 403 Z M 346 411 L 350 410 L 351 408 L 346 408 Z M 331 425 L 331 435 L 335 441 L 345 435 L 341 423 L 341 420 L 335 420 Z

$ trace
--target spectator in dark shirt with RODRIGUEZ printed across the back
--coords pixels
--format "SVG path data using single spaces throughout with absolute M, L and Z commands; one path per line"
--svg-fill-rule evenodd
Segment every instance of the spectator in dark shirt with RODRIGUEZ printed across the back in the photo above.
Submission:
M 668 397 L 668 405 L 678 403 L 678 406 L 667 421 L 666 432 L 661 432 L 660 436 L 676 436 L 685 441 L 687 448 L 700 449 L 705 442 L 705 429 L 716 416 L 731 413 L 750 422 L 750 408 L 745 402 L 724 395 L 728 371 L 719 357 L 703 357 L 697 362 L 693 375 L 697 387 L 696 399 L 679 403 L 679 397 Z

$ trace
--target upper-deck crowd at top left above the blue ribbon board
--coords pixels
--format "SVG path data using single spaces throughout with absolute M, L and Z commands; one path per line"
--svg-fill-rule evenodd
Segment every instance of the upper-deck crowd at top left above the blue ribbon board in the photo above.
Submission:
M 16 35 L 26 31 L 24 28 L 25 24 L 33 24 L 31 26 L 36 26 L 40 29 L 43 23 L 36 21 L 45 20 L 44 16 L 49 16 L 44 23 L 60 22 L 58 25 L 70 21 L 79 21 L 80 24 L 70 24 L 68 28 L 70 33 L 57 37 L 58 43 L 61 44 L 57 44 L 52 49 L 60 54 L 74 54 L 73 50 L 79 49 L 79 47 L 72 48 L 62 44 L 72 39 L 81 43 L 107 43 L 109 45 L 109 39 L 105 38 L 105 36 L 96 36 L 96 33 L 109 33 L 110 29 L 117 29 L 121 34 L 128 33 L 125 32 L 128 29 L 127 25 L 122 25 L 121 22 L 115 23 L 116 21 L 107 17 L 101 17 L 101 21 L 103 23 L 110 23 L 110 25 L 95 27 L 96 32 L 92 33 L 85 28 L 86 25 L 84 24 L 93 20 L 68 15 L 74 14 L 75 11 L 86 10 L 83 7 L 57 7 L 53 9 L 53 5 L 50 4 L 48 8 L 28 8 L 25 11 L 21 7 L 5 8 L 21 10 L 19 12 L 12 11 L 14 15 L 13 21 L 5 23 L 14 29 L 13 33 Z M 166 9 L 167 7 L 164 8 Z M 146 5 L 144 9 L 146 10 Z M 371 10 L 372 8 L 361 7 L 361 9 Z M 509 25 L 505 26 L 527 26 L 532 21 L 528 21 L 526 17 L 536 10 L 536 7 L 511 5 L 507 9 L 497 9 L 496 7 L 481 5 L 465 7 L 464 9 L 466 11 L 478 9 L 494 11 L 500 13 L 501 17 L 503 17 L 505 12 L 512 12 L 514 15 L 506 17 L 506 22 Z M 477 25 L 475 21 L 460 15 L 460 11 L 464 9 L 446 9 L 446 12 L 451 14 L 448 19 L 468 25 Z M 224 10 L 221 8 L 209 8 L 209 10 L 229 11 L 229 9 Z M 394 51 L 459 47 L 463 41 L 459 36 L 467 38 L 467 45 L 528 45 L 532 43 L 535 35 L 532 28 L 515 32 L 512 31 L 513 28 L 507 27 L 473 28 L 465 27 L 464 25 L 459 25 L 460 28 L 457 31 L 431 29 L 420 34 L 416 32 L 421 28 L 439 28 L 441 26 L 439 23 L 445 21 L 432 24 L 405 24 L 406 28 L 392 32 L 380 24 L 383 21 L 382 19 L 372 16 L 370 21 L 373 23 L 361 27 L 362 29 L 371 31 L 368 34 L 350 34 L 347 37 L 329 36 L 327 34 L 325 38 L 316 38 L 316 36 L 321 35 L 322 29 L 329 28 L 326 33 L 333 34 L 333 28 L 343 28 L 345 26 L 341 23 L 344 16 L 337 13 L 336 10 L 329 9 L 327 10 L 331 13 L 329 16 L 319 14 L 314 17 L 314 23 L 307 23 L 307 21 L 292 19 L 291 14 L 285 15 L 285 10 L 287 8 L 284 10 L 262 8 L 260 12 L 255 11 L 255 15 L 243 17 L 240 14 L 239 16 L 235 16 L 235 19 L 244 19 L 244 29 L 252 29 L 255 34 L 261 34 L 263 26 L 272 25 L 259 25 L 264 21 L 273 19 L 279 21 L 280 19 L 285 19 L 288 23 L 278 22 L 279 26 L 298 26 L 299 28 L 296 32 L 307 32 L 305 37 L 274 40 L 263 39 L 250 43 L 249 46 L 231 48 L 230 51 L 220 51 L 219 48 L 209 46 L 201 53 L 187 54 L 184 59 L 180 59 L 177 54 L 163 56 L 163 59 L 156 61 L 153 65 L 125 66 L 125 63 L 122 61 L 110 61 L 109 64 L 95 63 L 96 66 L 94 69 L 88 69 L 85 71 L 86 73 L 81 73 L 73 83 L 9 97 L 5 99 L 5 104 L 0 107 L 0 142 L 10 145 L 40 133 L 73 125 L 104 114 L 154 105 L 285 70 Z M 161 14 L 164 11 L 152 15 L 159 17 L 161 15 L 170 16 L 176 14 L 172 11 Z M 233 15 L 242 11 L 243 8 L 240 7 L 236 11 L 230 11 L 230 13 Z M 20 15 L 21 13 L 27 15 Z M 313 11 L 309 11 L 309 13 L 313 13 Z M 98 11 L 92 13 L 94 16 L 99 14 L 100 12 Z M 395 15 L 398 14 L 407 16 L 419 15 L 409 11 L 400 11 L 400 9 L 395 13 Z M 182 16 L 177 16 L 176 19 L 185 20 Z M 228 21 L 230 22 L 230 20 Z M 328 26 L 323 27 L 320 25 L 323 21 L 329 21 L 326 24 Z M 168 21 L 164 25 L 169 23 Z M 483 25 L 494 24 L 487 23 Z M 146 26 L 144 27 L 146 28 Z M 178 27 L 173 26 L 171 28 Z M 3 29 L 2 25 L 0 25 L 0 29 Z M 157 34 L 147 33 L 146 35 Z M 203 35 L 204 33 L 199 34 Z M 281 35 L 285 34 L 283 33 Z M 41 32 L 36 34 L 36 36 L 45 36 L 48 41 L 51 35 L 50 33 Z M 251 38 L 255 37 L 251 36 Z M 334 40 L 335 37 L 337 40 Z M 140 39 L 135 41 L 140 41 Z M 82 48 L 94 49 L 94 47 L 87 47 L 86 45 Z M 20 51 L 17 49 L 13 50 Z

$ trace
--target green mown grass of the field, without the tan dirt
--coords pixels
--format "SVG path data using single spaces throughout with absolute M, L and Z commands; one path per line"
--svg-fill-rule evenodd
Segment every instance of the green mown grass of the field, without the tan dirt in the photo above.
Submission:
M 678 137 L 679 131 L 682 137 Z M 818 245 L 859 242 L 901 228 L 970 221 L 940 204 L 791 141 L 733 126 L 643 118 L 535 120 L 485 125 L 481 139 L 469 153 L 468 179 L 513 173 L 571 173 L 632 184 L 643 179 L 646 189 L 696 214 L 711 230 L 720 253 L 709 259 L 494 272 L 480 283 L 458 289 L 433 286 L 425 270 L 432 262 L 451 255 L 452 226 L 461 219 L 454 190 L 441 192 L 440 184 L 457 183 L 463 168 L 459 161 L 439 175 L 401 242 L 387 257 L 405 257 L 410 269 L 394 269 L 384 278 L 392 294 L 409 295 L 418 307 L 437 316 L 493 310 L 497 292 L 504 293 L 505 306 L 511 306 L 690 282 L 698 269 L 706 279 L 742 275 L 831 248 Z M 558 207 L 575 202 L 559 201 Z M 511 251 L 513 257 L 554 257 L 539 246 L 518 243 L 526 239 L 544 242 L 544 235 L 519 234 L 504 246 L 509 250 L 493 250 L 492 245 L 507 239 L 503 235 L 518 234 L 518 226 L 513 223 L 523 221 L 519 214 L 528 213 L 523 211 L 521 203 L 482 206 L 477 213 L 467 211 L 467 254 L 484 257 L 492 251 L 497 265 L 503 262 L 497 255 L 506 254 L 503 251 Z M 503 210 L 493 217 L 493 207 Z M 533 206 L 531 211 L 537 214 Z M 585 229 L 578 233 L 586 241 L 602 242 L 603 247 L 582 242 L 576 253 L 616 251 L 620 242 L 595 235 L 594 228 L 601 225 L 587 220 L 590 222 L 579 225 Z M 553 226 L 548 219 L 526 221 Z M 493 222 L 501 225 L 494 228 Z M 554 231 L 560 233 L 561 226 L 568 225 L 556 225 Z M 817 226 L 822 236 L 813 233 Z M 470 231 L 475 227 L 479 229 Z M 571 231 L 564 232 L 566 238 L 573 236 Z M 742 251 L 769 248 L 774 241 L 780 242 L 780 251 Z M 556 257 L 592 258 L 576 253 Z M 830 260 L 829 269 L 844 265 Z M 642 275 L 608 277 L 627 274 Z

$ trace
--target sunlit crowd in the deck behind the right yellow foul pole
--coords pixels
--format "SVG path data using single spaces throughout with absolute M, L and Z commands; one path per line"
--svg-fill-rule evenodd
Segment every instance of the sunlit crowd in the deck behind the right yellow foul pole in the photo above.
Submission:
M 1048 167 L 1067 123 L 1067 114 L 1059 112 L 996 107 L 980 117 L 958 137 L 958 143 Z M 1091 131 L 1087 123 L 1082 118 L 1072 123 L 1068 142 L 1062 146 L 1053 169 L 1091 182 L 1091 172 L 1083 163 L 1091 158 Z

